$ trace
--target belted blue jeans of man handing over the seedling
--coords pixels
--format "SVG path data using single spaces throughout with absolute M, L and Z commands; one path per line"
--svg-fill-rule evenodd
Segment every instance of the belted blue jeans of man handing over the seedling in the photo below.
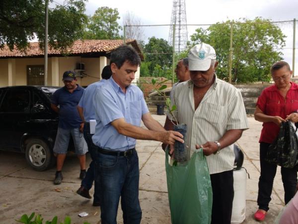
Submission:
M 95 174 L 99 185 L 102 224 L 117 224 L 121 196 L 124 224 L 140 224 L 139 158 L 134 149 L 130 156 L 107 155 L 96 151 Z

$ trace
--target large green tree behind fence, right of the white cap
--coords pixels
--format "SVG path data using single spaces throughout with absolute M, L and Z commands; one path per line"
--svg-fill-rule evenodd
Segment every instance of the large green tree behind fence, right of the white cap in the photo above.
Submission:
M 217 75 L 228 80 L 230 23 L 233 26 L 232 82 L 269 81 L 271 65 L 282 59 L 285 35 L 269 19 L 227 20 L 211 25 L 207 30 L 196 29 L 190 45 L 205 42 L 217 53 Z

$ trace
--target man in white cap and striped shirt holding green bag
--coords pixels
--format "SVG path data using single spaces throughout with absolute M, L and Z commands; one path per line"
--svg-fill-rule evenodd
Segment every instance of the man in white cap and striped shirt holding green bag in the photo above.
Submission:
M 212 46 L 195 45 L 188 54 L 190 80 L 173 91 L 176 118 L 187 124 L 188 156 L 203 148 L 213 189 L 212 224 L 230 224 L 233 190 L 233 143 L 248 128 L 239 90 L 215 74 L 218 62 Z M 168 114 L 166 125 L 173 124 Z

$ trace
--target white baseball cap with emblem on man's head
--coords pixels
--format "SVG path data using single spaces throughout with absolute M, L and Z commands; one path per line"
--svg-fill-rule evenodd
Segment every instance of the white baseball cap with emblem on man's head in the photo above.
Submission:
M 207 71 L 210 68 L 211 60 L 216 59 L 215 50 L 206 43 L 193 46 L 188 53 L 189 71 Z

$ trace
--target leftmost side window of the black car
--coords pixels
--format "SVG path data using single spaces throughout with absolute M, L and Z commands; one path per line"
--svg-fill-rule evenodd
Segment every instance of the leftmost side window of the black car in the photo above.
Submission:
M 28 90 L 8 90 L 3 98 L 0 112 L 29 112 L 29 99 Z

